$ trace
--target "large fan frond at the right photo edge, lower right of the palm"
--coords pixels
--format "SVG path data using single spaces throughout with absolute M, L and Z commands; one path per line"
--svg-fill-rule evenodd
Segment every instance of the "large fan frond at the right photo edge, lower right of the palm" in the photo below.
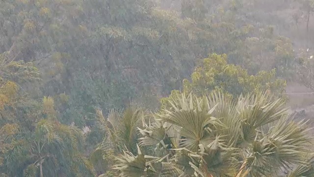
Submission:
M 295 165 L 306 166 L 312 138 L 307 135 L 304 122 L 281 118 L 269 124 L 267 132 L 257 133 L 255 140 L 243 150 L 246 169 L 252 176 L 269 176 Z

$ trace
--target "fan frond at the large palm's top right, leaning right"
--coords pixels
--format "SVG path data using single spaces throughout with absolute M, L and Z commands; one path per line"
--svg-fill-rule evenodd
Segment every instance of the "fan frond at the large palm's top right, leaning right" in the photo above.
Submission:
M 282 99 L 272 101 L 272 96 L 265 92 L 240 96 L 235 106 L 236 129 L 233 130 L 240 133 L 237 146 L 253 142 L 262 127 L 287 117 L 288 108 L 284 103 Z

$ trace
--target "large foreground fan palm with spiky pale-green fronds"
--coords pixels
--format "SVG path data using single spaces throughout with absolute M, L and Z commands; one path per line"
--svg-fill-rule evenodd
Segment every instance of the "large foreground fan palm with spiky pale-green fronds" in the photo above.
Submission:
M 121 177 L 314 176 L 306 121 L 290 119 L 284 100 L 260 92 L 234 101 L 213 92 L 169 103 L 139 128 L 137 155 L 126 150 L 118 158 Z M 152 154 L 141 152 L 147 147 Z

